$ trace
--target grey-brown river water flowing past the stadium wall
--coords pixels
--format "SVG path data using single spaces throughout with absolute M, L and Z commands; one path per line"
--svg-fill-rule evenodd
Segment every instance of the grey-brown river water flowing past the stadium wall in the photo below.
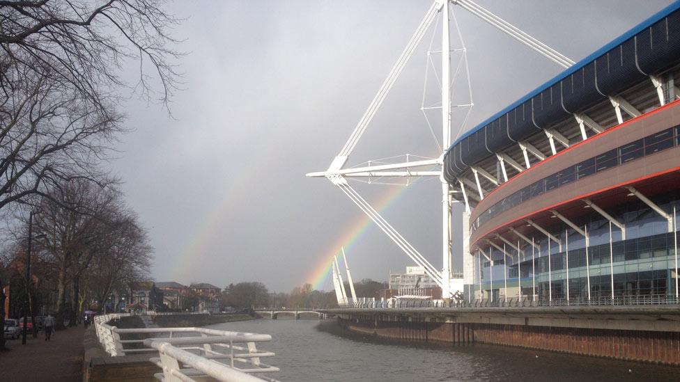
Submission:
M 319 327 L 320 326 L 320 327 Z M 257 319 L 210 328 L 268 333 L 281 381 L 680 381 L 680 367 L 486 344 L 409 345 L 339 335 L 324 321 Z

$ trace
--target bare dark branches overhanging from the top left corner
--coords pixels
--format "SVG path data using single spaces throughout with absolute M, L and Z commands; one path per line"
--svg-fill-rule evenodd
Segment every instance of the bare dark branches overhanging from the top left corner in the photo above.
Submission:
M 178 56 L 168 30 L 178 19 L 163 0 L 0 0 L 0 47 L 26 72 L 61 79 L 95 103 L 105 86 L 125 86 L 120 68 L 139 61 L 139 89 L 168 102 L 177 85 L 170 62 Z M 42 64 L 42 65 L 36 65 Z M 149 73 L 155 72 L 155 76 Z

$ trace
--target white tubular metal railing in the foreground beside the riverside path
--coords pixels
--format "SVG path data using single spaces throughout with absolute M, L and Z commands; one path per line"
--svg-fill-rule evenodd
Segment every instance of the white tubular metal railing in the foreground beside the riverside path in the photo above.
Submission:
M 278 367 L 261 362 L 261 358 L 275 356 L 275 353 L 258 351 L 256 347 L 256 342 L 270 341 L 270 335 L 194 327 L 123 329 L 111 326 L 111 321 L 127 316 L 132 315 L 96 316 L 95 331 L 100 343 L 110 356 L 158 352 L 160 357 L 150 358 L 150 362 L 162 368 L 162 373 L 155 374 L 161 381 L 194 381 L 194 378 L 204 380 L 206 377 L 218 381 L 275 381 L 252 375 L 279 371 Z M 121 335 L 146 335 L 147 338 L 122 340 Z M 219 360 L 226 360 L 228 364 Z

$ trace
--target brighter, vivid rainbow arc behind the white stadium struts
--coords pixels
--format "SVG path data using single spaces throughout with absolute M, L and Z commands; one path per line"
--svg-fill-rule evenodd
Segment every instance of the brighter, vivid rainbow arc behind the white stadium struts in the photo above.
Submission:
M 395 186 L 389 189 L 377 203 L 371 203 L 373 208 L 379 213 L 383 213 L 389 209 L 394 202 L 399 200 L 409 189 L 420 182 L 413 182 L 410 186 Z M 326 285 L 330 285 L 330 274 L 333 257 L 340 253 L 340 248 L 345 248 L 345 255 L 349 256 L 352 253 L 352 248 L 357 244 L 364 234 L 368 232 L 369 228 L 373 227 L 373 221 L 366 214 L 362 214 L 357 221 L 350 225 L 350 227 L 334 241 L 332 246 L 325 251 L 325 254 L 320 257 L 314 269 L 309 273 L 309 276 L 304 278 L 305 283 L 309 283 L 312 289 L 323 290 Z M 340 259 L 338 259 L 340 260 Z

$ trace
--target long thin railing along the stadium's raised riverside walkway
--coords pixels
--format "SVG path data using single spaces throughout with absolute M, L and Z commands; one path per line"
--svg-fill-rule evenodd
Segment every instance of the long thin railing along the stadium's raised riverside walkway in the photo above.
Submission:
M 637 305 L 672 305 L 679 304 L 680 299 L 667 294 L 646 294 L 630 296 L 599 296 L 591 299 L 533 299 L 530 296 L 472 301 L 416 300 L 416 301 L 366 301 L 361 303 L 341 304 L 339 308 L 386 309 L 386 308 L 532 308 L 551 306 L 637 306 Z

